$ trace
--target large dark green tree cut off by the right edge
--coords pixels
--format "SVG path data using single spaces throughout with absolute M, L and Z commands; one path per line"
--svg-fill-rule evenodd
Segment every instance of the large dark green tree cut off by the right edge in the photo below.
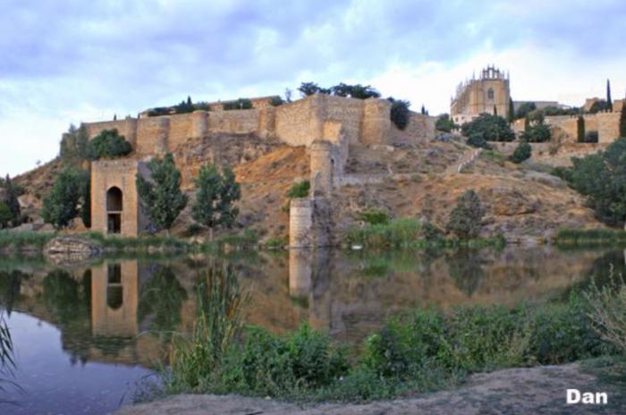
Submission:
M 611 225 L 626 223 L 626 138 L 585 157 L 572 157 L 563 172 L 571 187 L 587 197 L 596 216 Z

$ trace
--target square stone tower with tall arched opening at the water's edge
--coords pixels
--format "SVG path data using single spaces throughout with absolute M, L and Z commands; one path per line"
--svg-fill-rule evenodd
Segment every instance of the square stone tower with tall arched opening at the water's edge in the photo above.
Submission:
M 114 187 L 122 191 L 123 195 L 121 234 L 137 236 L 146 228 L 148 220 L 141 212 L 135 185 L 138 172 L 148 176 L 146 165 L 131 158 L 91 163 L 91 229 L 108 233 L 107 191 Z

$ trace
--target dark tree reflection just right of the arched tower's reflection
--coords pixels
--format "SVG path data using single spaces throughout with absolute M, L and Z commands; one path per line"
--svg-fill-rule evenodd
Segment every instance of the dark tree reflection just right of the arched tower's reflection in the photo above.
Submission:
M 138 318 L 152 315 L 149 329 L 173 330 L 181 322 L 182 301 L 187 292 L 173 274 L 172 267 L 162 267 L 141 287 Z

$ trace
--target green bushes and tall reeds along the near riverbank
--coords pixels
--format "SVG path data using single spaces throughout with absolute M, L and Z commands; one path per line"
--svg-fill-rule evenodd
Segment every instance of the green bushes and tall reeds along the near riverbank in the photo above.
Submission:
M 360 402 L 458 385 L 470 373 L 563 364 L 623 352 L 590 317 L 594 301 L 416 309 L 390 319 L 353 350 L 309 326 L 285 335 L 243 327 L 245 301 L 233 271 L 211 271 L 199 288 L 199 319 L 173 343 L 165 392 L 244 394 Z

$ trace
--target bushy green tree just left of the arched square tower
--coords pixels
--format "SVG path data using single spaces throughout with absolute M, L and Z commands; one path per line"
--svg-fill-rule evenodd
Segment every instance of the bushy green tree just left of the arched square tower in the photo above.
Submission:
M 66 167 L 56 176 L 52 191 L 43 200 L 41 216 L 48 224 L 59 229 L 70 224 L 87 205 L 85 184 L 89 175 L 74 167 Z

